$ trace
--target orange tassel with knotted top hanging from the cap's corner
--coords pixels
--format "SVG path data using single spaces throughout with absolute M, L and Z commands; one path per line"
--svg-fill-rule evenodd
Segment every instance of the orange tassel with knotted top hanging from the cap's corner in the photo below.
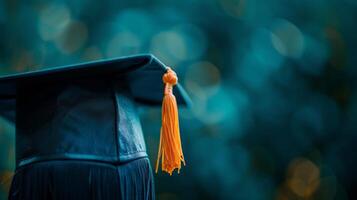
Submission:
M 172 175 L 175 169 L 178 169 L 178 173 L 180 173 L 181 162 L 185 165 L 181 148 L 177 103 L 172 93 L 172 87 L 177 84 L 178 78 L 176 73 L 168 67 L 162 80 L 165 84 L 165 92 L 162 101 L 162 126 L 155 171 L 157 173 L 161 159 L 162 171 Z

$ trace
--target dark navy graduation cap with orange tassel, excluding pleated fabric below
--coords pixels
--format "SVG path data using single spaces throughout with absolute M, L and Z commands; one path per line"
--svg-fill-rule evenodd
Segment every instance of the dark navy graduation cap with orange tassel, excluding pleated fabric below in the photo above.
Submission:
M 176 96 L 176 98 L 175 98 Z M 174 71 L 137 55 L 0 77 L 0 115 L 16 126 L 16 166 L 62 159 L 126 162 L 147 156 L 137 103 L 160 105 L 156 171 L 184 163 L 177 104 L 190 99 Z

